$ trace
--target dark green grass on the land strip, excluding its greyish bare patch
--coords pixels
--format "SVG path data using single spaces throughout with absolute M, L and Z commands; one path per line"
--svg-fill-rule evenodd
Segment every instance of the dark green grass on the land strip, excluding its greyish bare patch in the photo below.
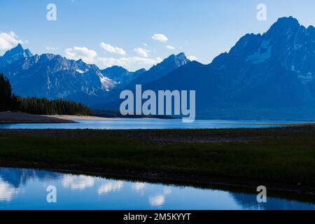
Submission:
M 268 135 L 268 131 L 260 131 Z M 144 143 L 132 137 L 109 137 L 102 133 L 93 136 L 92 131 L 73 132 L 89 134 L 84 137 L 75 137 L 75 134 L 71 137 L 66 134 L 64 137 L 0 134 L 0 160 L 139 169 L 315 186 L 315 132 L 283 135 L 283 130 L 279 130 L 270 132 L 267 140 L 223 144 Z M 153 132 L 163 134 L 163 131 Z M 190 135 L 202 131 L 182 132 Z M 222 130 L 216 132 L 218 135 L 225 133 Z M 246 136 L 259 135 L 257 130 L 239 132 L 246 132 Z

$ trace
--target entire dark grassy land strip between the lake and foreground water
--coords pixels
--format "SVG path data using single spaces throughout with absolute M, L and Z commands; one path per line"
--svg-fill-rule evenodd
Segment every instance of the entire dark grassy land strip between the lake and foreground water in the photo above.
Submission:
M 0 130 L 1 165 L 260 184 L 315 195 L 315 127 Z

